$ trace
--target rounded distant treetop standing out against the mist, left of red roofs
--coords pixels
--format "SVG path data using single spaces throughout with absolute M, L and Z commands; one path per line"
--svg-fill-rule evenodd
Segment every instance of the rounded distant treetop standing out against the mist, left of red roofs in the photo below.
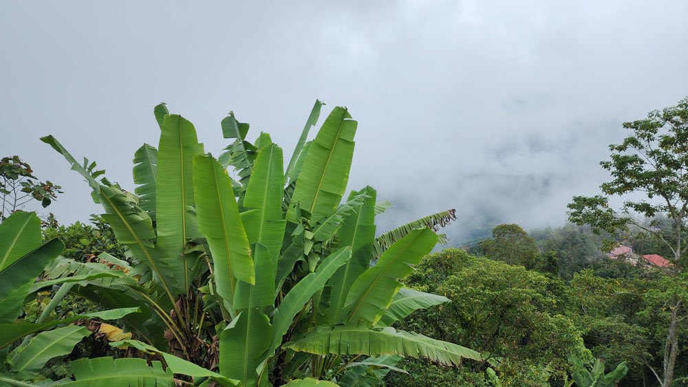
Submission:
M 517 224 L 501 224 L 492 229 L 492 239 L 480 245 L 484 256 L 509 265 L 522 265 L 533 269 L 540 252 L 535 239 Z

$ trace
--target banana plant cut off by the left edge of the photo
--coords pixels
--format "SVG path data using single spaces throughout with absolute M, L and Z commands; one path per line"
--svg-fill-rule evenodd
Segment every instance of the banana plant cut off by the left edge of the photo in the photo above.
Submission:
M 91 334 L 88 329 L 69 323 L 79 319 L 112 320 L 138 311 L 120 309 L 48 321 L 44 316 L 54 308 L 50 302 L 36 322 L 19 318 L 25 300 L 36 291 L 58 283 L 111 276 L 87 274 L 36 281 L 64 247 L 57 239 L 41 243 L 41 222 L 33 212 L 15 212 L 0 223 L 0 384 L 16 385 L 21 380 L 39 378 L 49 360 L 69 354 Z M 34 333 L 38 334 L 33 336 Z

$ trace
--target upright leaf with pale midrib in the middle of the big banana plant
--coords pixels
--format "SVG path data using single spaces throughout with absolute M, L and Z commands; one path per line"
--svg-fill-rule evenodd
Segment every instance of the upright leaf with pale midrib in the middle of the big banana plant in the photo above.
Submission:
M 275 269 L 286 225 L 282 219 L 283 189 L 282 149 L 275 144 L 266 145 L 258 151 L 244 197 L 244 207 L 252 210 L 242 212 L 241 220 L 250 243 L 268 247 Z

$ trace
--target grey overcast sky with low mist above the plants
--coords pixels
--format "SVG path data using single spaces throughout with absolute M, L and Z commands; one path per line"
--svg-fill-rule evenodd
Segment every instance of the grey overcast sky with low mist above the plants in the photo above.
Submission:
M 87 184 L 39 137 L 133 190 L 161 101 L 215 155 L 233 110 L 289 157 L 320 98 L 358 120 L 349 187 L 396 204 L 378 227 L 456 208 L 461 239 L 486 217 L 563 224 L 621 123 L 688 96 L 688 1 L 337 3 L 3 1 L 0 155 L 87 220 Z

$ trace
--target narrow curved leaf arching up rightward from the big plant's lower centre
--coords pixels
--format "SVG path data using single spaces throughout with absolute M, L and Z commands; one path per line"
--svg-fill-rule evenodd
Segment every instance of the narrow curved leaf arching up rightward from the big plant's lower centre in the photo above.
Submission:
M 272 349 L 277 349 L 282 342 L 282 337 L 287 333 L 294 317 L 301 311 L 303 306 L 310 298 L 325 287 L 327 280 L 332 277 L 336 269 L 344 265 L 351 258 L 351 247 L 342 247 L 327 256 L 325 261 L 320 264 L 314 273 L 303 277 L 290 289 L 284 296 L 281 304 L 275 310 L 272 318 L 272 326 L 275 327 L 275 340 L 272 342 Z M 272 352 L 272 351 L 271 351 Z

